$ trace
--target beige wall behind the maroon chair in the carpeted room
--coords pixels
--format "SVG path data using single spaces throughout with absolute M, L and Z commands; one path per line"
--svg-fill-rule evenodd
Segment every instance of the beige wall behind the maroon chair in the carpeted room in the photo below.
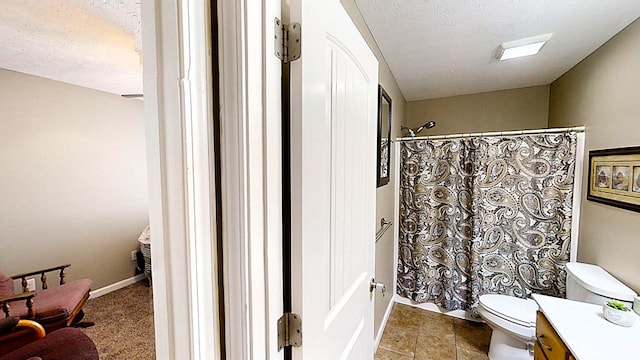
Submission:
M 129 278 L 148 222 L 142 102 L 0 69 L 0 264 Z

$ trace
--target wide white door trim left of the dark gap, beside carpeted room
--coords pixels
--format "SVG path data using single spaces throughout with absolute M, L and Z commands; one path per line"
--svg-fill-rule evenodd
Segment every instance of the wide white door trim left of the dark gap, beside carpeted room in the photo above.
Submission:
M 206 2 L 142 2 L 157 359 L 220 358 Z

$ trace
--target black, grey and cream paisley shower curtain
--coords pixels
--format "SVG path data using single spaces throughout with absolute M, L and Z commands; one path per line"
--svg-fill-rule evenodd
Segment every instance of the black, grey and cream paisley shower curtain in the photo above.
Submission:
M 482 294 L 563 297 L 576 139 L 402 142 L 398 294 L 476 315 Z

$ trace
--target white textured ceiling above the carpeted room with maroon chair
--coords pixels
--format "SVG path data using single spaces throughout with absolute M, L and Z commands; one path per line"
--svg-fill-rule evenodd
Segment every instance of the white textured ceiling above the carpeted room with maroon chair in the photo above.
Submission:
M 140 0 L 1 0 L 0 68 L 142 93 Z

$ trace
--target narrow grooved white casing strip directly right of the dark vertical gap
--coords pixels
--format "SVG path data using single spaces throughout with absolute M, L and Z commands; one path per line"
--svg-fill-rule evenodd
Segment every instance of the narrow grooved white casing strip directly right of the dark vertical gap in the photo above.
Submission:
M 221 87 L 221 151 L 223 203 L 223 275 L 225 337 L 228 358 L 250 359 L 244 145 L 243 1 L 218 1 Z M 236 121 L 230 121 L 236 119 Z M 235 144 L 235 147 L 232 147 Z M 232 164 L 235 164 L 233 166 Z M 236 241 L 225 241 L 234 239 Z M 242 241 L 241 241 L 242 240 Z M 233 355 L 233 356 L 232 356 Z

